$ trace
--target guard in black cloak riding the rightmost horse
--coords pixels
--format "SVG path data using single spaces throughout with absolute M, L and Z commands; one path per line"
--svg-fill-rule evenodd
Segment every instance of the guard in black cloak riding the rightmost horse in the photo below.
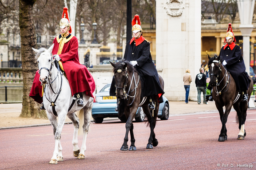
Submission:
M 239 93 L 243 94 L 242 101 L 247 101 L 247 90 L 251 80 L 249 79 L 249 75 L 245 72 L 244 59 L 241 54 L 241 49 L 235 44 L 236 39 L 231 28 L 231 23 L 228 24 L 228 30 L 224 42 L 227 44 L 220 50 L 220 61 L 224 66 L 227 67 L 227 70 L 234 78 L 236 88 L 239 90 Z M 207 88 L 212 90 L 210 85 L 208 85 Z M 213 101 L 212 93 L 210 95 L 206 95 L 206 101 L 208 100 Z

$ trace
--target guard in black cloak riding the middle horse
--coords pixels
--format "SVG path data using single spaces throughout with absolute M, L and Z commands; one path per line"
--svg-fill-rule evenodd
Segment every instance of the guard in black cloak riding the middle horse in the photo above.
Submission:
M 155 95 L 158 95 L 159 103 L 163 102 L 164 91 L 161 88 L 158 73 L 150 54 L 150 44 L 142 36 L 139 15 L 135 15 L 132 20 L 131 41 L 126 43 L 124 60 L 130 61 L 130 64 L 139 72 L 141 81 L 141 97 L 149 97 L 149 110 L 155 110 Z M 113 77 L 109 94 L 116 95 L 115 79 Z M 119 109 L 119 101 L 117 101 L 116 111 Z

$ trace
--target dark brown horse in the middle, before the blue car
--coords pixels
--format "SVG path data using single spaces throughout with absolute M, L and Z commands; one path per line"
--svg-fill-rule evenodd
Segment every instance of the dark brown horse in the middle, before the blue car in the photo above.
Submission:
M 110 62 L 111 63 L 111 62 Z M 116 81 L 116 97 L 120 99 L 118 116 L 122 117 L 124 114 L 127 122 L 125 124 L 126 133 L 124 137 L 124 143 L 121 147 L 122 151 L 128 150 L 128 133 L 130 131 L 131 135 L 131 146 L 129 151 L 136 151 L 134 145 L 135 139 L 133 135 L 133 123 L 132 120 L 136 115 L 139 106 L 142 107 L 143 112 L 148 118 L 150 126 L 150 136 L 148 139 L 147 149 L 152 149 L 153 146 L 157 146 L 158 141 L 154 132 L 156 126 L 156 118 L 159 109 L 158 97 L 155 96 L 156 108 L 153 110 L 153 114 L 149 111 L 148 104 L 149 99 L 147 97 L 141 98 L 141 84 L 139 80 L 138 72 L 133 68 L 133 66 L 127 61 L 120 61 L 116 64 L 111 63 L 114 67 L 114 77 Z M 164 90 L 164 80 L 159 76 L 160 84 Z

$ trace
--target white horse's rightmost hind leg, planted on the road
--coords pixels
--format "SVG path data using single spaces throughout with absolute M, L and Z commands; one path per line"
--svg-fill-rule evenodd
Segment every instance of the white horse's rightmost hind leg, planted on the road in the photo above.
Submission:
M 83 125 L 83 130 L 84 130 L 84 137 L 83 137 L 83 143 L 81 146 L 81 151 L 77 157 L 77 159 L 84 159 L 84 151 L 86 150 L 86 137 L 89 131 L 89 126 L 90 126 L 90 114 L 92 111 L 92 104 L 93 104 L 93 98 L 90 98 L 88 103 L 85 105 L 83 108 L 84 110 L 84 125 Z

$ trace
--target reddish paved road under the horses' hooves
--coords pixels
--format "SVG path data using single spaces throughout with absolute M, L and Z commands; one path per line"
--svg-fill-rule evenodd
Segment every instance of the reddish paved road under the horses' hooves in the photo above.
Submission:
M 146 149 L 149 128 L 145 123 L 134 122 L 137 151 L 119 150 L 124 123 L 92 124 L 84 160 L 73 156 L 73 125 L 64 125 L 61 135 L 64 162 L 58 165 L 48 164 L 54 149 L 51 126 L 0 130 L 0 169 L 256 169 L 256 110 L 248 111 L 245 140 L 236 139 L 239 129 L 234 121 L 235 112 L 231 112 L 225 142 L 218 142 L 221 128 L 218 113 L 173 116 L 168 121 L 158 121 L 155 132 L 159 144 L 152 150 Z M 79 136 L 79 146 L 81 142 Z M 239 164 L 253 167 L 237 167 Z

